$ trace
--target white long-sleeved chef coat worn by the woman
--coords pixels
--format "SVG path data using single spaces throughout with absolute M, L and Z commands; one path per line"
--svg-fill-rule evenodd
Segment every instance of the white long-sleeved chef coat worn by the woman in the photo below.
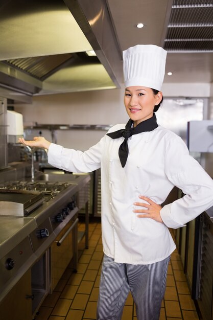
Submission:
M 123 128 L 125 124 L 115 125 L 109 132 Z M 170 130 L 158 126 L 132 135 L 124 168 L 118 154 L 123 140 L 105 135 L 85 152 L 51 144 L 49 163 L 72 172 L 101 168 L 104 253 L 115 262 L 150 264 L 165 259 L 176 247 L 168 227 L 182 227 L 213 205 L 213 180 Z M 139 195 L 161 204 L 174 186 L 185 196 L 161 209 L 164 223 L 133 212 L 141 209 L 134 202 L 144 202 Z

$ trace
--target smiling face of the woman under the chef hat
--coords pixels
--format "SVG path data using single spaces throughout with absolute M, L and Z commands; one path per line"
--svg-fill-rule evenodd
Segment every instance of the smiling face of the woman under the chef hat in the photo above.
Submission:
M 162 99 L 162 93 L 154 95 L 151 88 L 143 86 L 131 86 L 125 90 L 124 104 L 131 120 L 134 121 L 134 127 L 140 122 L 153 116 L 155 105 L 158 105 Z

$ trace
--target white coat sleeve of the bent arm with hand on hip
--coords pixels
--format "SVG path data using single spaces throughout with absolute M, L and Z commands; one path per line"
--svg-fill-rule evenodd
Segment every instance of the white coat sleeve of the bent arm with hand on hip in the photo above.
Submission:
M 184 226 L 213 205 L 213 180 L 178 136 L 168 143 L 165 174 L 185 194 L 161 209 L 161 218 L 168 227 Z

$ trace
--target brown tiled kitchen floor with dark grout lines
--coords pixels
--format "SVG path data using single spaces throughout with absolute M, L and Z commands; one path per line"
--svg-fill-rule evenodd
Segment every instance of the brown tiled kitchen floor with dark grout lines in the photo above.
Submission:
M 80 228 L 84 230 L 84 225 L 81 224 Z M 78 273 L 72 273 L 70 267 L 65 270 L 53 294 L 45 298 L 36 320 L 96 319 L 102 258 L 101 223 L 93 222 L 89 225 L 89 248 L 82 252 Z M 122 320 L 136 319 L 133 300 L 129 295 Z M 167 289 L 160 314 L 160 320 L 164 319 L 199 319 L 177 252 L 172 254 L 168 269 Z

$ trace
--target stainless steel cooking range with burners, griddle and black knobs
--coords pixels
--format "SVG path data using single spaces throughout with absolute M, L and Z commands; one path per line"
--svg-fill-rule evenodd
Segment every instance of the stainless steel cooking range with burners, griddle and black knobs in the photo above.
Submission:
M 68 182 L 25 180 L 8 182 L 0 187 L 2 189 L 1 200 L 4 200 L 3 194 L 6 196 L 5 201 L 2 201 L 1 212 L 4 211 L 6 200 L 14 199 L 8 194 L 11 197 L 19 194 L 21 198 L 21 200 L 14 199 L 19 201 L 14 202 L 14 208 L 15 203 L 19 208 L 17 216 L 14 216 L 16 213 L 14 208 L 13 216 L 0 216 L 5 230 L 3 234 L 0 233 L 0 314 L 4 314 L 8 320 L 13 320 L 14 313 L 10 318 L 9 305 L 13 306 L 11 296 L 15 294 L 16 304 L 17 300 L 18 305 L 22 304 L 17 319 L 20 316 L 20 319 L 22 317 L 28 320 L 35 314 L 45 295 L 52 292 L 60 279 L 56 279 L 54 273 L 54 264 L 58 266 L 61 260 L 54 259 L 54 247 L 63 250 L 61 270 L 65 270 L 72 258 L 74 258 L 74 269 L 77 268 L 78 207 L 76 207 L 76 202 L 78 187 Z M 41 197 L 39 196 L 37 201 L 33 204 L 30 202 L 30 205 L 27 206 L 29 195 L 34 193 L 36 197 L 38 194 Z M 23 199 L 25 195 L 27 198 Z M 22 205 L 22 216 L 20 215 L 20 204 Z M 28 273 L 29 270 L 30 273 Z M 25 282 L 22 278 L 26 278 L 27 281 L 29 277 L 30 284 L 23 293 L 19 283 Z M 19 291 L 22 294 L 17 294 Z M 30 317 L 23 310 L 26 305 L 29 306 L 29 301 Z

